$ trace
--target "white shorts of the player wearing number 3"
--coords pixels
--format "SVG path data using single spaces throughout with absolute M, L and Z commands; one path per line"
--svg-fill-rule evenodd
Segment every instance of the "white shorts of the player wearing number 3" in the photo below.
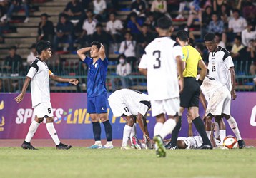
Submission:
M 150 102 L 152 106 L 152 117 L 155 117 L 160 114 L 174 116 L 178 113 L 179 115 L 179 97 L 170 98 L 167 100 L 151 100 Z

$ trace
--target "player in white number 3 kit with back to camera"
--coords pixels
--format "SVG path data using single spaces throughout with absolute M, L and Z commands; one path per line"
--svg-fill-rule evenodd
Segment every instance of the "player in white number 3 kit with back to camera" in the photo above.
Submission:
M 159 37 L 149 43 L 139 63 L 139 71 L 147 76 L 147 91 L 156 117 L 154 138 L 157 157 L 165 157 L 162 139 L 179 119 L 179 92 L 183 90 L 182 47 L 170 36 L 172 21 L 162 17 L 157 21 Z M 179 80 L 178 80 L 178 75 Z M 167 115 L 167 120 L 165 120 Z

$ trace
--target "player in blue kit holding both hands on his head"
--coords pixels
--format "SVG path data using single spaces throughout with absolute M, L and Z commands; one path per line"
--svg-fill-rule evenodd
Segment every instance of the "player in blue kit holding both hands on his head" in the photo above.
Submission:
M 90 56 L 85 55 L 87 51 L 90 51 Z M 109 123 L 107 115 L 107 88 L 106 88 L 106 76 L 107 66 L 109 61 L 105 55 L 104 46 L 93 41 L 91 47 L 82 48 L 77 51 L 79 58 L 87 64 L 87 112 L 92 119 L 92 129 L 94 132 L 95 143 L 89 148 L 113 148 L 112 145 L 112 125 Z M 101 142 L 101 127 L 99 124 L 101 120 L 105 127 L 107 144 L 102 147 Z

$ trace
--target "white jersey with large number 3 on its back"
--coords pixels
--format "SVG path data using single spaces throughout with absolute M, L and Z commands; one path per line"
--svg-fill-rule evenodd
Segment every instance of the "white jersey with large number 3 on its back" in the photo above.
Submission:
M 176 57 L 182 55 L 182 47 L 168 36 L 155 38 L 145 48 L 139 68 L 147 69 L 150 100 L 179 97 Z

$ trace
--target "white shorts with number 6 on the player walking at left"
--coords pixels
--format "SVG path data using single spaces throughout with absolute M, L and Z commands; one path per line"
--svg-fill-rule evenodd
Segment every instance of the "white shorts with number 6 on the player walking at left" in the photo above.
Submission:
M 39 103 L 39 105 L 36 105 L 34 115 L 38 118 L 54 117 L 51 103 Z

